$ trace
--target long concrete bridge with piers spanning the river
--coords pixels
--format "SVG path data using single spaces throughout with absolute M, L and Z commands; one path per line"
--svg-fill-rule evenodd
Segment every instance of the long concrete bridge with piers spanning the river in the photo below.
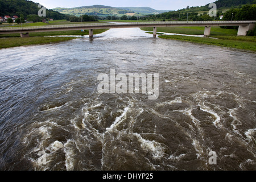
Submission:
M 210 27 L 214 26 L 239 26 L 237 35 L 245 36 L 247 31 L 253 30 L 256 21 L 208 21 L 208 22 L 129 22 L 129 23 L 85 23 L 85 24 L 65 24 L 48 25 L 34 27 L 3 27 L 0 28 L 0 34 L 20 34 L 21 37 L 28 37 L 30 32 L 47 31 L 68 31 L 68 30 L 89 30 L 89 37 L 93 37 L 94 29 L 103 28 L 142 28 L 154 27 L 153 36 L 156 37 L 157 27 L 205 27 L 204 35 L 210 35 Z

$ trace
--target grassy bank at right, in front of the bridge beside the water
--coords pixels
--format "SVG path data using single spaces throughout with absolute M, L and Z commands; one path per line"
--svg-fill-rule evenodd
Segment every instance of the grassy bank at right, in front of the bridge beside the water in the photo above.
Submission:
M 210 38 L 197 38 L 193 36 L 181 36 L 181 35 L 160 35 L 162 39 L 175 39 L 187 42 L 208 44 L 213 46 L 245 49 L 256 52 L 255 37 L 237 37 L 237 36 L 215 36 L 218 39 Z

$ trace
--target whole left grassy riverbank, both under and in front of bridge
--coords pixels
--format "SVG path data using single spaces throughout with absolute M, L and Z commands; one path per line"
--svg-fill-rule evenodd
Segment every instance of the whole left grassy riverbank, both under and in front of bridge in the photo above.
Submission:
M 102 32 L 107 31 L 108 29 L 94 30 L 93 34 L 101 34 Z M 56 31 L 56 32 L 33 32 L 30 33 L 29 38 L 20 38 L 19 34 L 3 34 L 0 35 L 0 49 L 9 48 L 9 47 L 19 47 L 35 44 L 49 44 L 63 42 L 67 40 L 76 39 L 77 37 L 47 37 L 47 36 L 62 36 L 62 35 L 89 35 L 89 31 L 85 30 L 81 32 L 80 30 L 75 31 Z

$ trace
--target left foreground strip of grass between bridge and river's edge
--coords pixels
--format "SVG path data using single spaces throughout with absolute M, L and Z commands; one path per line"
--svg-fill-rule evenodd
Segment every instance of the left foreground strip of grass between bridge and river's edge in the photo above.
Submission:
M 72 37 L 54 37 L 54 38 L 44 38 L 44 37 L 29 37 L 29 38 L 5 38 L 0 41 L 0 48 L 27 46 L 34 44 L 49 44 L 63 42 L 67 40 L 72 40 Z

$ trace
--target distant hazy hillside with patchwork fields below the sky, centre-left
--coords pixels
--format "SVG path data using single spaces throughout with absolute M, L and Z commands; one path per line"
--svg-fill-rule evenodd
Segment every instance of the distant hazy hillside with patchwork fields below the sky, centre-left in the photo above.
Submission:
M 57 7 L 53 9 L 55 11 L 59 11 L 63 14 L 71 14 L 75 16 L 80 15 L 117 15 L 117 14 L 126 14 L 126 13 L 134 13 L 134 11 L 122 10 L 116 7 L 103 6 L 103 5 L 94 5 L 94 6 L 82 6 L 82 7 L 74 7 L 74 8 L 61 8 Z

